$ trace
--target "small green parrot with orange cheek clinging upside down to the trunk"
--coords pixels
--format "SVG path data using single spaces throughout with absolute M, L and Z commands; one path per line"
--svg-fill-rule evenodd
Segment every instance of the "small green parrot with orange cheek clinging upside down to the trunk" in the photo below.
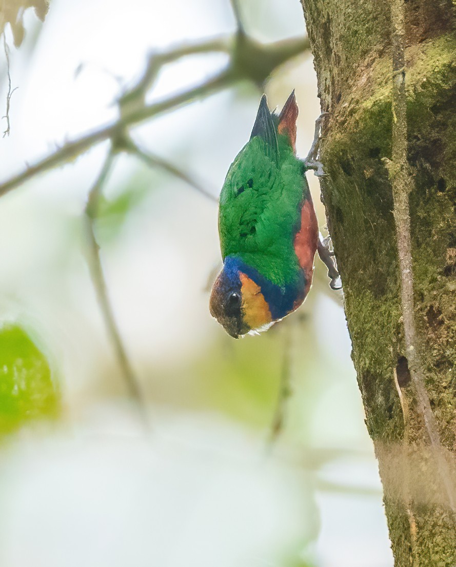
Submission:
M 294 91 L 280 115 L 269 111 L 263 95 L 250 140 L 231 164 L 220 194 L 223 269 L 209 307 L 234 338 L 265 331 L 301 305 L 317 249 L 332 282 L 339 276 L 319 239 L 305 177 L 310 168 L 322 174 L 321 164 L 297 158 L 297 117 Z M 318 135 L 319 126 L 316 140 Z

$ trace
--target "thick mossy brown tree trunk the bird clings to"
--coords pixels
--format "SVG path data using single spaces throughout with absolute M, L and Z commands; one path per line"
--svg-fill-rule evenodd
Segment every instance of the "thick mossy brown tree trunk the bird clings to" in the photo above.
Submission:
M 456 9 L 454 0 L 403 5 L 414 304 L 407 314 L 408 274 L 398 256 L 407 234 L 398 225 L 388 167 L 398 121 L 392 119 L 394 2 L 302 5 L 327 112 L 322 194 L 395 564 L 454 567 Z M 407 324 L 404 332 L 408 315 L 416 344 L 407 340 Z

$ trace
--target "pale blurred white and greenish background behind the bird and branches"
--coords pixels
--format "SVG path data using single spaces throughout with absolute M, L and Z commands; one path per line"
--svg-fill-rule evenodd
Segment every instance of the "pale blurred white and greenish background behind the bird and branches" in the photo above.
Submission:
M 242 0 L 240 10 L 261 42 L 305 34 L 298 0 Z M 140 77 L 151 50 L 234 33 L 235 19 L 229 0 L 52 0 L 44 23 L 29 9 L 24 26 L 17 49 L 5 29 L 18 89 L 10 136 L 0 139 L 0 183 L 115 119 L 116 98 Z M 226 64 L 224 54 L 183 58 L 163 70 L 147 100 L 199 84 Z M 293 88 L 303 156 L 319 114 L 309 52 L 273 74 L 269 106 L 280 107 Z M 132 136 L 217 196 L 260 96 L 240 82 Z M 342 293 L 330 290 L 316 260 L 313 289 L 296 314 L 261 337 L 234 341 L 208 310 L 208 280 L 220 261 L 216 204 L 121 155 L 96 234 L 147 400 L 145 433 L 86 261 L 83 211 L 107 151 L 101 143 L 0 201 L 0 318 L 33 338 L 62 399 L 52 426 L 19 420 L 3 434 L 0 565 L 392 565 Z M 318 181 L 307 176 L 323 228 Z M 293 394 L 271 446 L 286 349 Z

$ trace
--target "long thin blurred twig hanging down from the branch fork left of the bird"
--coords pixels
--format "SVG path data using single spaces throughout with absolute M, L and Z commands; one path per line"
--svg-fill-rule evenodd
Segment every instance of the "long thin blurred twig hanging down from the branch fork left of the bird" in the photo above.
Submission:
M 133 367 L 129 361 L 128 355 L 123 340 L 120 335 L 119 327 L 117 326 L 111 302 L 108 297 L 108 290 L 104 278 L 102 261 L 100 259 L 100 247 L 96 242 L 94 222 L 98 215 L 99 201 L 103 190 L 103 184 L 111 170 L 114 154 L 109 151 L 109 154 L 104 162 L 103 168 L 99 176 L 95 180 L 90 193 L 88 194 L 87 205 L 85 209 L 85 225 L 88 239 L 88 249 L 90 252 L 90 260 L 88 262 L 92 283 L 94 284 L 96 295 L 100 310 L 102 311 L 106 329 L 115 350 L 117 361 L 119 362 L 120 370 L 124 376 L 126 386 L 128 387 L 130 396 L 136 403 L 140 416 L 146 429 L 149 429 L 149 417 L 147 415 L 147 407 L 142 395 L 138 379 L 134 374 Z

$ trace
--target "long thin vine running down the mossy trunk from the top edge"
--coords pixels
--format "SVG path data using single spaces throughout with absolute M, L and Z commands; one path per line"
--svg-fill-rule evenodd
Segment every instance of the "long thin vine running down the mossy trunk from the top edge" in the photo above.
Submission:
M 421 359 L 421 344 L 416 332 L 415 307 L 413 301 L 413 266 L 410 234 L 409 194 L 413 189 L 413 176 L 407 156 L 407 95 L 406 61 L 404 54 L 404 0 L 391 3 L 392 18 L 392 160 L 389 169 L 394 202 L 394 220 L 401 283 L 401 303 L 404 321 L 409 370 L 415 386 L 417 406 L 423 417 L 434 458 L 439 464 L 447 498 L 451 509 L 456 512 L 454 481 L 444 455 L 438 433 L 436 418 L 430 407 L 429 397 L 424 385 L 424 365 Z

